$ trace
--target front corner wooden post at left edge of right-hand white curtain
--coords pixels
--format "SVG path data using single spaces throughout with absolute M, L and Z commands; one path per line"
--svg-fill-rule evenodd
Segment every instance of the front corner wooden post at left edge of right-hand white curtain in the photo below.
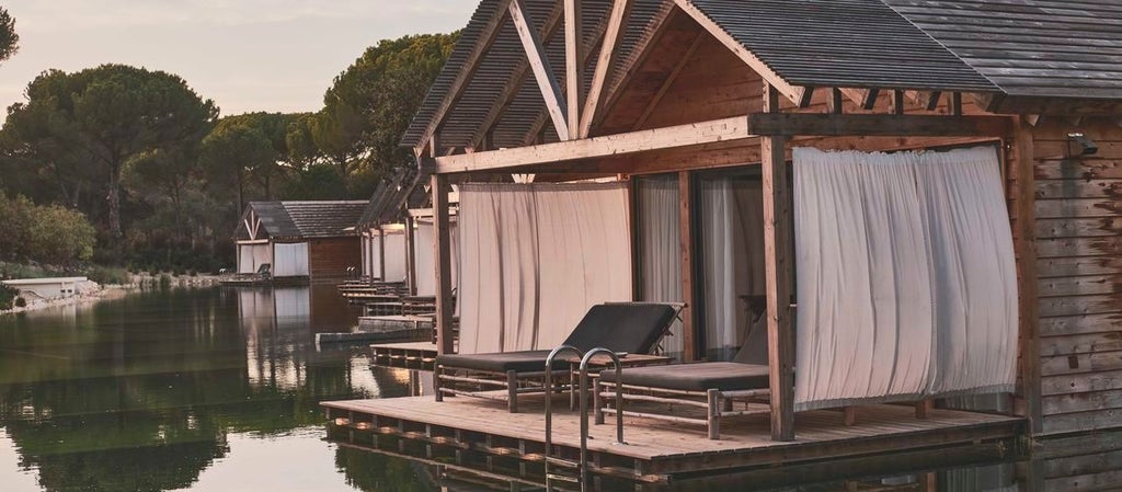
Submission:
M 779 92 L 764 84 L 764 112 L 779 112 Z M 763 164 L 764 268 L 772 439 L 794 440 L 794 337 L 791 329 L 791 209 L 787 137 L 760 138 Z

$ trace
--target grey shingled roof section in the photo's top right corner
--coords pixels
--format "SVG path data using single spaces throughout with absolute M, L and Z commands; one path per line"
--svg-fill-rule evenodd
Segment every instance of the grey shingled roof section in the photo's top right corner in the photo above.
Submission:
M 1119 0 L 882 0 L 1009 95 L 1122 97 Z

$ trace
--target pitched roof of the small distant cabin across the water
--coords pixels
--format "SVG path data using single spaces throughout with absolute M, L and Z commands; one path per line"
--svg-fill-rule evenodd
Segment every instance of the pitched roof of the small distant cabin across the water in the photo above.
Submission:
M 270 238 L 322 238 L 352 235 L 366 201 L 252 201 Z

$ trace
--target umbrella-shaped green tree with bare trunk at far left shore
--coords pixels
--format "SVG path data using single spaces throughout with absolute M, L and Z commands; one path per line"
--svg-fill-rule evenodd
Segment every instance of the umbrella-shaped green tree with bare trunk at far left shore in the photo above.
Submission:
M 105 180 L 107 236 L 118 261 L 123 255 L 121 172 L 139 155 L 199 142 L 218 117 L 183 79 L 126 65 L 101 65 L 75 73 L 48 71 L 27 88 L 27 102 L 8 109 L 4 130 L 36 154 L 55 155 L 68 146 L 89 154 L 83 165 Z M 37 115 L 24 118 L 24 115 Z M 25 121 L 38 124 L 17 128 Z M 42 121 L 46 124 L 42 124 Z M 20 142 L 21 140 L 21 142 Z

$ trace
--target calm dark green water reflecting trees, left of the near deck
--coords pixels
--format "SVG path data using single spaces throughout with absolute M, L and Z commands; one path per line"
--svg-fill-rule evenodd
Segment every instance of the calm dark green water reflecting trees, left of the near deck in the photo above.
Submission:
M 140 292 L 0 317 L 0 491 L 430 490 L 324 440 L 323 400 L 410 393 L 316 352 L 356 313 L 332 286 Z

